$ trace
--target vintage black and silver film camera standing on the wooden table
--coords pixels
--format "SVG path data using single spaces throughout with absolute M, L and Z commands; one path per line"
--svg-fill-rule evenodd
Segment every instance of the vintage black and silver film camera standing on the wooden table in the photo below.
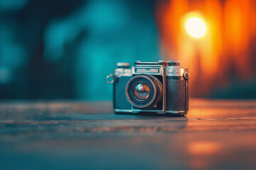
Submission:
M 179 61 L 117 63 L 107 76 L 114 84 L 115 113 L 159 113 L 183 116 L 188 112 L 188 69 Z

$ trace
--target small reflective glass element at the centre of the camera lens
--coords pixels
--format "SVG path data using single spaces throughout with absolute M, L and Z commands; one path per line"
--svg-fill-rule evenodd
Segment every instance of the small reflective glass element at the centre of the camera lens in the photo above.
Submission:
M 146 100 L 149 98 L 149 86 L 144 83 L 139 83 L 134 86 L 134 96 L 137 97 L 139 100 Z

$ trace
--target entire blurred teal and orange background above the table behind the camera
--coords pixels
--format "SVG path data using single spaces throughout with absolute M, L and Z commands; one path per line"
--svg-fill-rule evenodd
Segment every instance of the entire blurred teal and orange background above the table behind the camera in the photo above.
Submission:
M 0 99 L 111 100 L 117 62 L 181 60 L 191 97 L 256 98 L 254 0 L 1 0 Z

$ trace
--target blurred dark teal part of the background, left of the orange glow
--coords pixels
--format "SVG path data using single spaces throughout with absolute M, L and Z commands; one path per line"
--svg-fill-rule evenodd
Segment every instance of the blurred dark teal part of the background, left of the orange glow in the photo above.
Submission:
M 156 1 L 0 1 L 0 98 L 107 100 L 117 62 L 159 60 Z

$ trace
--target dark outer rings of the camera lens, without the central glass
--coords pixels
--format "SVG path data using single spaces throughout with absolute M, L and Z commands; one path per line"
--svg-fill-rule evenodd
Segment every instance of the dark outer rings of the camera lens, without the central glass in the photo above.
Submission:
M 161 89 L 163 89 L 163 87 L 162 87 L 162 85 L 161 85 L 161 82 L 159 81 L 159 79 L 156 79 L 155 77 L 152 77 L 153 79 L 156 79 L 157 84 L 159 84 L 159 88 L 160 88 L 160 89 L 157 89 L 157 87 L 156 87 L 156 85 L 155 85 L 155 82 L 152 81 L 149 77 L 152 77 L 152 76 L 151 76 L 150 74 L 139 74 L 139 75 L 136 76 L 136 77 L 132 77 L 132 79 L 130 79 L 130 80 L 128 81 L 128 83 L 127 83 L 127 85 L 126 85 L 126 87 L 125 87 L 125 96 L 127 97 L 127 100 L 129 101 L 129 103 L 132 104 L 132 106 L 135 106 L 135 107 L 137 107 L 137 108 L 147 108 L 147 107 L 149 107 L 149 106 L 155 101 L 156 98 L 158 98 L 157 101 L 159 101 L 159 100 L 161 99 L 161 96 L 162 96 L 162 94 L 161 94 L 161 93 L 162 93 Z M 153 86 L 153 89 L 154 89 L 154 94 L 153 94 L 151 100 L 149 101 L 149 103 L 146 103 L 144 106 L 137 106 L 137 104 L 134 103 L 134 102 L 132 101 L 132 99 L 129 97 L 129 93 L 128 93 L 129 85 L 131 84 L 132 81 L 134 81 L 134 79 L 138 79 L 138 78 L 144 78 L 144 79 L 150 81 L 150 83 L 151 83 L 151 85 Z M 157 91 L 157 90 L 159 91 L 159 93 L 161 94 L 161 96 L 156 96 L 156 91 Z

